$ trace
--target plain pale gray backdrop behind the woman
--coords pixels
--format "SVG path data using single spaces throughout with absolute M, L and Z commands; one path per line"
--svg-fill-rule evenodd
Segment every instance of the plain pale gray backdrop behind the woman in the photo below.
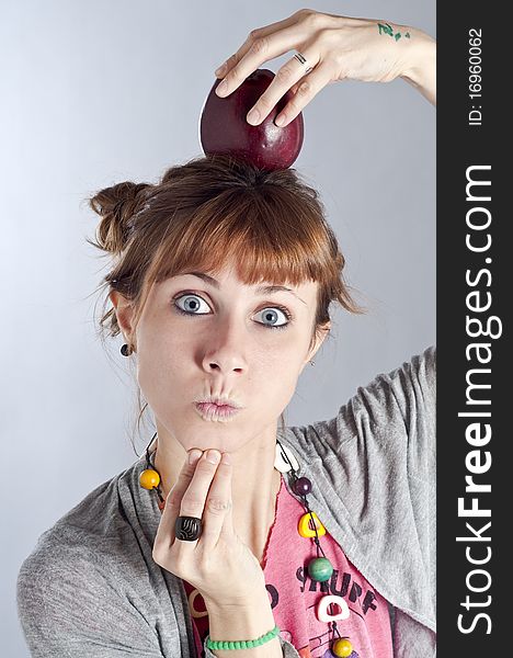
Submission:
M 21 561 L 137 458 L 122 341 L 105 355 L 95 334 L 93 292 L 109 265 L 84 240 L 96 216 L 83 200 L 123 180 L 156 182 L 201 155 L 214 69 L 251 29 L 301 7 L 436 36 L 433 0 L 0 1 L 4 656 L 27 656 L 14 604 Z M 276 71 L 289 56 L 264 66 Z M 358 385 L 435 342 L 435 116 L 403 80 L 329 84 L 304 112 L 294 167 L 320 190 L 369 313 L 335 311 L 288 424 L 331 418 Z

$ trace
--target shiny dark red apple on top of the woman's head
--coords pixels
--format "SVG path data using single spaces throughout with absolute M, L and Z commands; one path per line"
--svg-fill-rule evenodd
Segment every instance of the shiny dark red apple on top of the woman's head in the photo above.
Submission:
M 303 114 L 283 128 L 274 120 L 294 94 L 287 91 L 260 125 L 252 126 L 246 120 L 273 78 L 273 71 L 258 69 L 225 98 L 216 94 L 220 79 L 214 82 L 200 118 L 200 141 L 205 155 L 232 155 L 271 171 L 292 166 L 303 146 Z

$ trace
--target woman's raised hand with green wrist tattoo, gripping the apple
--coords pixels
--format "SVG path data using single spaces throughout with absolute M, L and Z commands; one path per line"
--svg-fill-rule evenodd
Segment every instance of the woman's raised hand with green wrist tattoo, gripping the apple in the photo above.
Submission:
M 263 63 L 289 50 L 300 53 L 304 61 L 293 56 L 278 69 L 249 109 L 247 120 L 251 125 L 262 123 L 290 92 L 275 118 L 275 125 L 286 126 L 329 82 L 344 79 L 390 82 L 401 77 L 435 104 L 436 42 L 430 35 L 389 21 L 309 9 L 252 30 L 241 47 L 216 70 L 216 76 L 223 77 L 216 93 L 229 97 Z

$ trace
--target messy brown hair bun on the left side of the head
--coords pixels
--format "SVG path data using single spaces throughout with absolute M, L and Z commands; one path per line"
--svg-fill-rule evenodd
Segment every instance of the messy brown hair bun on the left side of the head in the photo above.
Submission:
M 123 251 L 130 235 L 130 219 L 146 201 L 144 191 L 151 186 L 125 181 L 101 190 L 89 200 L 90 207 L 102 217 L 95 246 L 111 253 Z

